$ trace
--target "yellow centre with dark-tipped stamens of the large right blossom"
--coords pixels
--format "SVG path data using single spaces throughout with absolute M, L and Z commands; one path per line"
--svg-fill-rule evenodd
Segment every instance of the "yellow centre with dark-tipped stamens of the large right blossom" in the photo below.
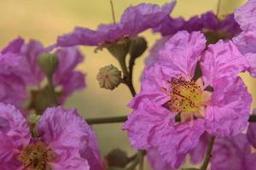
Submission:
M 185 117 L 204 117 L 205 106 L 211 93 L 203 90 L 201 78 L 196 82 L 186 81 L 183 77 L 172 78 L 169 83 L 172 90 L 169 92 L 170 100 L 167 107 L 170 111 L 180 113 L 182 119 L 184 114 Z

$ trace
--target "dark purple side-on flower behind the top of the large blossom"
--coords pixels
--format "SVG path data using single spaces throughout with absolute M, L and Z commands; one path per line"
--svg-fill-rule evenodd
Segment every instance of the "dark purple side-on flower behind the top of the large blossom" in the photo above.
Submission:
M 168 16 L 154 29 L 162 36 L 172 36 L 177 31 L 202 31 L 207 37 L 208 43 L 218 42 L 220 39 L 231 39 L 241 32 L 239 25 L 234 20 L 234 14 L 228 14 L 223 20 L 218 19 L 216 14 L 208 11 L 201 17 L 194 16 L 189 20 L 183 18 L 172 18 Z

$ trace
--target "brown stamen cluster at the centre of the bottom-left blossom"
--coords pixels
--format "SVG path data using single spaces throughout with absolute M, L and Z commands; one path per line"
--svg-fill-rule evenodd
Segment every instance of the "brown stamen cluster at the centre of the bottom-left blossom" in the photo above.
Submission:
M 18 160 L 23 164 L 24 169 L 27 170 L 45 170 L 47 163 L 55 159 L 53 150 L 47 148 L 43 142 L 33 143 L 27 145 L 21 150 Z

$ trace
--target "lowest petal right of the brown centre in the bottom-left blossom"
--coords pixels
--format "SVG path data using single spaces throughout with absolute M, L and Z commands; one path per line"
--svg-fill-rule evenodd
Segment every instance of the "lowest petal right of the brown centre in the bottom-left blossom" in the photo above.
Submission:
M 50 167 L 55 170 L 90 170 L 88 161 L 82 158 L 79 150 L 55 150 L 58 155 L 54 162 L 50 162 Z

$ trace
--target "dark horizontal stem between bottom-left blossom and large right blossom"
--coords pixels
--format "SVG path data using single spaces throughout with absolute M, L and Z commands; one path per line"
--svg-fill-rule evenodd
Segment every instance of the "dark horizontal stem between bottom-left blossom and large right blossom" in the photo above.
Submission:
M 127 116 L 113 116 L 113 117 L 86 119 L 86 122 L 92 125 L 92 124 L 103 124 L 103 123 L 113 123 L 113 122 L 125 122 L 126 120 L 127 120 Z

